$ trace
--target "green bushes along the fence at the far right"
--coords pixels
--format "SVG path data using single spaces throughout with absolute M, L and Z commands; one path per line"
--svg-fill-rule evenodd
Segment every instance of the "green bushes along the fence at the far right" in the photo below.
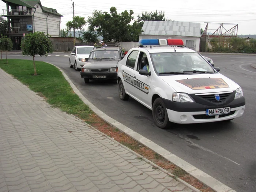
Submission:
M 216 53 L 256 53 L 256 39 L 233 37 L 230 39 L 212 38 L 212 49 Z

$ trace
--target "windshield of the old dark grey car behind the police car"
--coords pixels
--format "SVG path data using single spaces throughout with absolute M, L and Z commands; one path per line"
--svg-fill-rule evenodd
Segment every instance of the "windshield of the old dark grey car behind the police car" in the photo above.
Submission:
M 91 52 L 89 59 L 94 60 L 94 58 L 99 59 L 119 59 L 119 53 L 117 50 L 96 50 Z

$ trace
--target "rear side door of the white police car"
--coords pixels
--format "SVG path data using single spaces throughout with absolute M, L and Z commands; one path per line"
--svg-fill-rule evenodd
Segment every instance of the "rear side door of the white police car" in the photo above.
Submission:
M 138 60 L 138 50 L 133 50 L 127 57 L 126 64 L 122 66 L 122 75 L 125 91 L 134 98 L 138 95 L 137 89 L 133 86 L 133 77 L 135 76 L 135 63 Z

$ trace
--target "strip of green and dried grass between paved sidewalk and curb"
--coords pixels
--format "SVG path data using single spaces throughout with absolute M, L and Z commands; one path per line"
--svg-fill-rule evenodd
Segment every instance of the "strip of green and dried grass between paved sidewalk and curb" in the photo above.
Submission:
M 0 68 L 38 93 L 39 96 L 43 97 L 53 107 L 60 108 L 63 112 L 73 114 L 82 119 L 90 126 L 105 133 L 110 138 L 113 138 L 117 142 L 172 173 L 174 179 L 180 178 L 202 192 L 214 192 L 211 188 L 203 185 L 180 167 L 173 165 L 150 148 L 137 142 L 99 118 L 89 106 L 84 104 L 78 95 L 74 93 L 70 84 L 59 69 L 45 62 L 35 61 L 35 63 L 37 65 L 37 75 L 34 75 L 33 61 L 31 60 L 9 59 L 9 64 L 0 61 Z M 137 159 L 143 160 L 143 158 L 140 157 Z M 158 167 L 155 166 L 153 168 L 158 169 Z

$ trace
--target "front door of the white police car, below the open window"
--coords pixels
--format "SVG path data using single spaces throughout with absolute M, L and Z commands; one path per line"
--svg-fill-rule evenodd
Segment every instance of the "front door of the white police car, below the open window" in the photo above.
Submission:
M 149 71 L 151 71 L 151 75 L 140 75 L 139 70 L 143 69 L 145 58 L 148 60 Z M 147 51 L 141 50 L 139 52 L 138 60 L 136 61 L 136 71 L 134 78 L 136 79 L 134 82 L 134 86 L 137 87 L 138 91 L 138 99 L 140 102 L 147 105 L 151 108 L 151 93 L 150 93 L 150 83 L 153 76 L 153 64 L 151 62 L 150 54 Z

